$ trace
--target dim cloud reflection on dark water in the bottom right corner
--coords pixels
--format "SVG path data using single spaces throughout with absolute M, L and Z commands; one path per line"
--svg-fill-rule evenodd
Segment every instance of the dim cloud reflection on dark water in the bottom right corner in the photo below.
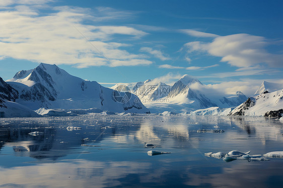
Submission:
M 204 186 L 211 184 L 212 187 L 279 187 L 282 177 L 282 167 L 276 162 L 268 166 L 265 162 L 241 161 L 230 167 L 222 168 L 221 173 L 195 174 L 188 172 L 186 175 L 187 185 Z M 230 164 L 230 163 L 229 163 Z M 273 180 L 270 177 L 273 176 Z

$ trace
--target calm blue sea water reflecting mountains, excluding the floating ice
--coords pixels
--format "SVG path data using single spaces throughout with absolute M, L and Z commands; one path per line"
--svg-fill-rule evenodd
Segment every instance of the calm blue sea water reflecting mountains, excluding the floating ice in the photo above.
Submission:
M 197 133 L 215 126 L 225 132 Z M 282 128 L 263 117 L 0 119 L 0 187 L 281 187 L 283 159 L 225 162 L 204 153 L 283 151 Z

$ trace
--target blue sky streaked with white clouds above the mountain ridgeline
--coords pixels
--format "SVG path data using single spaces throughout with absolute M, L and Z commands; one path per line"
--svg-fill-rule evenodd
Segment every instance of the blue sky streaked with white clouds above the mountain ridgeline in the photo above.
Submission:
M 106 83 L 183 74 L 232 94 L 283 83 L 282 1 L 0 2 L 0 76 L 40 62 Z

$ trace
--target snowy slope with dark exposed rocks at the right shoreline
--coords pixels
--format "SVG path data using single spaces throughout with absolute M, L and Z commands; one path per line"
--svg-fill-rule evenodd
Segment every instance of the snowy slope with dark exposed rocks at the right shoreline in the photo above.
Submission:
M 255 98 L 249 98 L 246 102 L 235 108 L 231 116 L 264 116 L 269 111 L 283 109 L 283 89 L 268 92 L 264 91 Z

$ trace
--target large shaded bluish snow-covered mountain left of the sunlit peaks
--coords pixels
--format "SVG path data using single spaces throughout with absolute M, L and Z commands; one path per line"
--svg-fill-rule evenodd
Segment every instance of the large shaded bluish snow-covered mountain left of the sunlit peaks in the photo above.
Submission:
M 55 64 L 41 63 L 35 69 L 19 71 L 7 83 L 19 91 L 17 102 L 32 110 L 98 108 L 112 112 L 149 113 L 135 95 L 70 75 Z

